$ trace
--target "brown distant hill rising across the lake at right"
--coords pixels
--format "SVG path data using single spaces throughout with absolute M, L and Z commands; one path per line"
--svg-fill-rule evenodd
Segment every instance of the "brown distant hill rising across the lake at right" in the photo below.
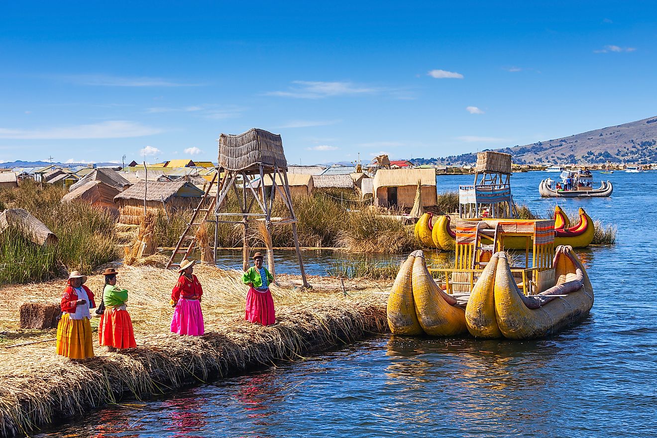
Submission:
M 512 154 L 516 164 L 657 163 L 657 116 L 496 150 Z M 436 162 L 474 164 L 476 160 L 477 154 L 470 153 L 439 158 Z

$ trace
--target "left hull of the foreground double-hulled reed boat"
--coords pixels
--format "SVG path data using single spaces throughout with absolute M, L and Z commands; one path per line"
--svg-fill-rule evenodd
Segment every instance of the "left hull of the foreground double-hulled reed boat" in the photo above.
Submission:
M 456 336 L 466 334 L 465 311 L 455 297 L 436 284 L 424 253 L 415 251 L 402 263 L 388 297 L 388 326 L 393 334 Z

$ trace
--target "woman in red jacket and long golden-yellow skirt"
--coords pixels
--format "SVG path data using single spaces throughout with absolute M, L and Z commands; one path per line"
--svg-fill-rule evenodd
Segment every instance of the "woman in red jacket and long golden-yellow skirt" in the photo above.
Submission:
M 93 336 L 89 309 L 96 307 L 93 292 L 85 286 L 87 276 L 73 271 L 66 280 L 57 324 L 57 354 L 70 359 L 93 357 Z

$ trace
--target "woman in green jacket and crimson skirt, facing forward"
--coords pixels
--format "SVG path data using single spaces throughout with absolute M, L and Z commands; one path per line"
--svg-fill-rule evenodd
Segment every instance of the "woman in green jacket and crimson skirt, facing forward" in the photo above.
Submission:
M 262 265 L 263 255 L 253 255 L 254 265 L 242 275 L 242 282 L 250 286 L 246 294 L 246 320 L 270 326 L 276 322 L 274 300 L 269 284 L 274 280 L 269 270 Z

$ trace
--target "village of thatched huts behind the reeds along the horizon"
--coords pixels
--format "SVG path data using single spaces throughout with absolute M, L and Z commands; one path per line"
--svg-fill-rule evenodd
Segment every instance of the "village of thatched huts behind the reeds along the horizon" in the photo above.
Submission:
M 514 172 L 544 171 L 545 165 L 513 164 Z M 580 167 L 579 165 L 565 165 Z M 599 164 L 588 166 L 592 170 L 624 169 L 625 164 Z M 398 169 L 405 169 L 399 171 Z M 657 169 L 657 164 L 644 166 Z M 139 164 L 135 161 L 122 165 L 97 166 L 95 164 L 66 167 L 53 164 L 45 167 L 19 167 L 0 169 L 0 188 L 18 187 L 21 181 L 32 180 L 41 185 L 61 186 L 67 190 L 62 200 L 83 200 L 106 209 L 124 224 L 137 225 L 143 208 L 175 211 L 192 207 L 203 196 L 215 196 L 217 164 L 194 160 L 171 160 L 157 164 Z M 294 196 L 311 196 L 327 192 L 346 202 L 372 200 L 382 207 L 410 208 L 417 190 L 422 186 L 422 204 L 436 202 L 436 175 L 463 175 L 474 173 L 473 165 L 447 166 L 417 164 L 414 160 L 389 160 L 382 155 L 362 165 L 290 165 L 288 184 Z M 256 176 L 251 185 L 260 190 L 271 190 L 273 182 Z M 280 182 L 278 183 L 280 184 Z M 140 209 L 141 208 L 141 209 Z

